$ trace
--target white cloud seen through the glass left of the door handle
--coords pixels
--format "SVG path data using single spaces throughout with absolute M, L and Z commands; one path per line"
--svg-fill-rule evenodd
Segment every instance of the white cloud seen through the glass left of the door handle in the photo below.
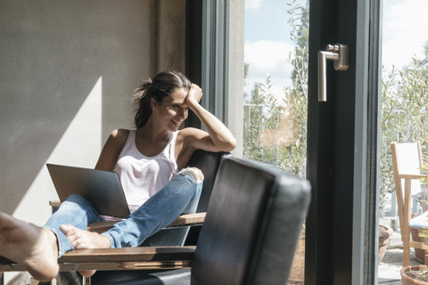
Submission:
M 264 83 L 270 76 L 272 90 L 281 93 L 292 82 L 292 64 L 289 61 L 294 45 L 285 41 L 245 42 L 245 63 L 249 64 L 245 92 L 249 93 L 255 82 Z

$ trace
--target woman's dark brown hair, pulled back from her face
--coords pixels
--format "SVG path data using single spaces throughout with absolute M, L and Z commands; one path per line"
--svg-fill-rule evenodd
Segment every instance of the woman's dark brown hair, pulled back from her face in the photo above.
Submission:
M 192 82 L 177 71 L 162 71 L 155 77 L 144 80 L 143 85 L 136 89 L 134 102 L 136 104 L 136 128 L 141 128 L 152 116 L 152 98 L 163 102 L 163 98 L 169 96 L 175 88 L 190 89 Z

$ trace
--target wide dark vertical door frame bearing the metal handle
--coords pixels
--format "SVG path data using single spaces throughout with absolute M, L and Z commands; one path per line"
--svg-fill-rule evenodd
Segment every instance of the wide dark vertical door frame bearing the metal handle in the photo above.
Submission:
M 379 1 L 310 2 L 306 284 L 376 283 L 379 19 Z M 318 61 L 338 44 L 346 70 Z

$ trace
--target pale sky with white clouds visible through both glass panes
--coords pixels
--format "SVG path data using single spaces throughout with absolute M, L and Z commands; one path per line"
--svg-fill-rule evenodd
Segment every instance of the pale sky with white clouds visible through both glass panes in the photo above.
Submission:
M 291 85 L 292 66 L 289 55 L 293 45 L 287 23 L 292 0 L 245 1 L 245 63 L 249 74 L 245 92 L 254 82 L 264 82 L 269 75 L 273 91 L 281 94 Z M 296 0 L 306 4 L 306 0 Z M 401 67 L 412 57 L 424 56 L 428 43 L 427 0 L 383 0 L 383 65 Z

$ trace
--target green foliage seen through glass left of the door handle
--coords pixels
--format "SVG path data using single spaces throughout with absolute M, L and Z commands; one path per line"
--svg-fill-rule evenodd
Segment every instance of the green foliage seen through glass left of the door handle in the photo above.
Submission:
M 308 39 L 309 4 L 289 5 L 290 38 L 294 51 L 292 86 L 284 87 L 280 96 L 272 93 L 270 77 L 257 83 L 251 96 L 245 94 L 245 158 L 256 159 L 300 177 L 306 176 L 306 141 L 308 125 Z M 248 70 L 248 65 L 245 70 Z

